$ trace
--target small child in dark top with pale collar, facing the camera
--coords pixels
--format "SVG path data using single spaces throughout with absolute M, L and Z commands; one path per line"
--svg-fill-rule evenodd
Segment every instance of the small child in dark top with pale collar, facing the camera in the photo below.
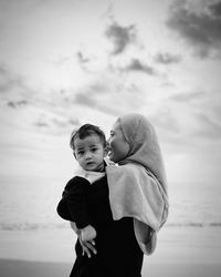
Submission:
M 85 124 L 72 133 L 70 146 L 81 168 L 66 184 L 57 205 L 57 213 L 62 218 L 75 223 L 82 242 L 94 244 L 96 229 L 92 225 L 93 214 L 88 213 L 88 206 L 93 207 L 97 193 L 101 197 L 95 183 L 105 176 L 105 134 L 99 127 Z

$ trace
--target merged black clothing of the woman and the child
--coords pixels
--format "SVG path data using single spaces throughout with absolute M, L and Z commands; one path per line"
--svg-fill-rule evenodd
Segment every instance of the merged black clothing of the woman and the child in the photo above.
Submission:
M 114 220 L 109 206 L 106 176 L 92 185 L 82 177 L 72 178 L 59 203 L 61 217 L 76 223 L 78 228 L 95 227 L 97 255 L 82 256 L 77 239 L 76 260 L 71 277 L 140 277 L 143 252 L 135 234 L 133 218 Z

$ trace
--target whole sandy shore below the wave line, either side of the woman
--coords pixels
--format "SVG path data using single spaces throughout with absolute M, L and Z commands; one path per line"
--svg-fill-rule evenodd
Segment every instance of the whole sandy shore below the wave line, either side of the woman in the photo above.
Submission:
M 220 277 L 220 227 L 167 227 L 145 256 L 143 277 Z M 0 230 L 1 277 L 69 276 L 76 236 L 69 228 Z

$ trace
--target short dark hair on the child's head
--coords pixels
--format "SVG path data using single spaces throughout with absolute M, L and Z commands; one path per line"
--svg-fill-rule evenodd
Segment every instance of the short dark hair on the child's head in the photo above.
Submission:
M 70 140 L 70 146 L 72 150 L 75 150 L 74 146 L 74 141 L 78 137 L 81 140 L 92 135 L 92 134 L 96 134 L 98 135 L 99 140 L 102 141 L 104 147 L 107 146 L 107 141 L 106 141 L 106 136 L 105 133 L 96 125 L 92 125 L 92 124 L 84 124 L 82 125 L 80 129 L 74 130 L 71 134 L 71 140 Z

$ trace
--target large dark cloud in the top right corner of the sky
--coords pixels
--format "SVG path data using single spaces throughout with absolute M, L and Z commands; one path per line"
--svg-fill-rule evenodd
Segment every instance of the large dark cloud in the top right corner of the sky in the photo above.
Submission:
M 187 1 L 176 1 L 170 9 L 167 25 L 196 48 L 198 55 L 206 58 L 220 53 L 221 2 L 206 4 L 202 11 L 191 11 Z

